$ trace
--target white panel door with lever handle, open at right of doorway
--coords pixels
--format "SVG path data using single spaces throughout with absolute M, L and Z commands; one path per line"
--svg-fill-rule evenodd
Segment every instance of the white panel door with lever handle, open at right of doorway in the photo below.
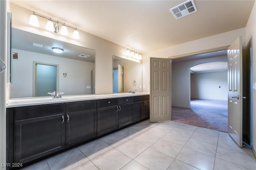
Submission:
M 242 37 L 228 47 L 228 133 L 242 147 Z

